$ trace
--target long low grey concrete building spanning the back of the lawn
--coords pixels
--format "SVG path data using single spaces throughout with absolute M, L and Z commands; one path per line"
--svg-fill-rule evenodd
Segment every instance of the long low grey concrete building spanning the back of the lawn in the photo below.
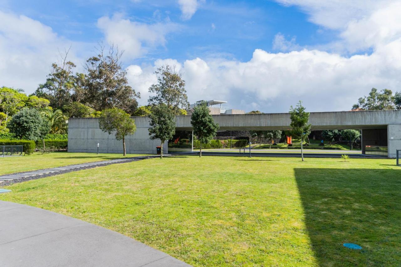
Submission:
M 288 130 L 289 113 L 213 115 L 220 130 Z M 156 154 L 158 140 L 150 140 L 149 118 L 133 117 L 137 131 L 126 138 L 127 153 Z M 361 129 L 362 147 L 388 147 L 388 156 L 395 158 L 401 149 L 401 110 L 312 112 L 313 130 Z M 192 131 L 190 116 L 176 116 L 176 129 Z M 99 143 L 101 153 L 122 153 L 122 141 L 99 129 L 97 118 L 71 118 L 68 129 L 69 152 L 96 152 Z M 167 142 L 163 146 L 168 152 Z

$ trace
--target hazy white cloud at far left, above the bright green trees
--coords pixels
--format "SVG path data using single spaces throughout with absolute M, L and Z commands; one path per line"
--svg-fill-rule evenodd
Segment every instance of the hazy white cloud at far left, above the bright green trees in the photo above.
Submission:
M 26 16 L 0 11 L 0 21 L 0 86 L 32 93 L 45 82 L 51 64 L 58 61 L 58 49 L 63 52 L 72 45 L 69 60 L 77 63 L 74 52 L 86 46 L 58 36 L 49 26 Z

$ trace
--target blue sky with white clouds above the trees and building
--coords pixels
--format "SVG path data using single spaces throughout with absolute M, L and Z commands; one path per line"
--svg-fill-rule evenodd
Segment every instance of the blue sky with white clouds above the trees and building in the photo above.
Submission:
M 0 0 L 0 86 L 33 93 L 69 47 L 83 72 L 103 42 L 124 50 L 140 105 L 168 64 L 190 103 L 350 110 L 372 87 L 401 91 L 400 12 L 401 0 Z

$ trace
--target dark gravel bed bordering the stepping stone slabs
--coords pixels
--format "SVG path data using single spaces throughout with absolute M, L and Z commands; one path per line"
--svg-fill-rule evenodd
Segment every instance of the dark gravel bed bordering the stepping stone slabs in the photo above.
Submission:
M 163 157 L 169 157 L 169 156 L 171 156 L 171 155 L 163 155 Z M 20 182 L 29 181 L 29 180 L 36 180 L 36 179 L 55 176 L 55 175 L 59 175 L 59 174 L 65 174 L 65 173 L 68 173 L 68 172 L 76 172 L 76 171 L 79 171 L 79 170 L 87 170 L 87 169 L 92 169 L 92 168 L 101 167 L 101 166 L 107 166 L 107 165 L 112 165 L 112 164 L 120 164 L 120 163 L 128 163 L 128 162 L 134 162 L 134 161 L 139 161 L 139 160 L 147 160 L 147 159 L 150 159 L 150 158 L 160 158 L 160 156 L 155 155 L 155 156 L 138 156 L 138 157 L 132 157 L 132 158 L 115 158 L 115 160 L 124 159 L 124 161 L 107 162 L 107 163 L 103 163 L 103 164 L 99 164 L 99 165 L 83 166 L 83 167 L 75 168 L 75 169 L 59 170 L 59 171 L 51 172 L 51 173 L 47 173 L 47 174 L 38 174 L 38 175 L 34 175 L 34 176 L 29 176 L 29 177 L 15 178 L 13 180 L 8 180 L 8 181 L 0 181 L 0 186 L 8 186 L 8 185 L 11 185 L 11 184 L 16 184 L 16 183 L 20 183 Z M 101 160 L 101 161 L 98 161 L 98 162 L 102 162 L 102 161 L 104 161 L 104 160 Z M 75 165 L 80 165 L 80 164 L 88 164 L 88 163 L 95 163 L 95 162 L 96 161 L 84 162 L 84 163 L 79 163 L 79 164 L 71 164 L 71 165 L 59 166 L 59 167 L 53 167 L 53 168 L 69 167 L 69 166 L 75 166 Z M 52 168 L 47 168 L 47 169 L 52 169 Z M 47 169 L 41 169 L 41 170 L 47 170 Z M 31 170 L 31 171 L 26 171 L 26 172 L 34 172 L 34 171 L 40 171 L 40 170 Z M 4 175 L 1 175 L 1 176 L 23 174 L 23 173 L 26 173 L 26 172 L 16 172 L 16 173 L 12 173 L 12 174 L 4 174 Z

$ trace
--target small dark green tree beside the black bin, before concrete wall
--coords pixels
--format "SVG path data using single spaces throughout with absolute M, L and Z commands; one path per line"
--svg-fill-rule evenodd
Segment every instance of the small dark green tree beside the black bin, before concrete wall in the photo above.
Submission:
M 159 104 L 152 108 L 150 117 L 150 139 L 160 139 L 160 158 L 163 158 L 164 141 L 170 140 L 175 134 L 175 116 L 166 104 Z

